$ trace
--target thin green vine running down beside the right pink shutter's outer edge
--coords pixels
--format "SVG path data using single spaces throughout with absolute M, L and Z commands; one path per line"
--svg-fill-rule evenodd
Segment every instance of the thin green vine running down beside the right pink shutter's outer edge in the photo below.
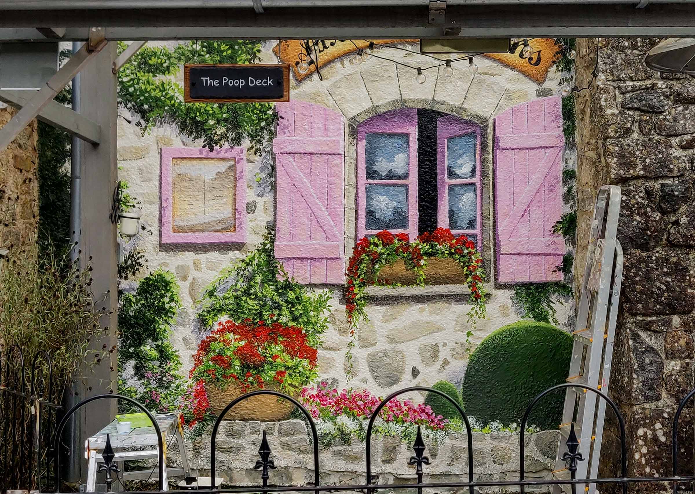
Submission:
M 576 57 L 573 38 L 555 38 L 557 56 L 555 69 L 562 74 L 560 86 L 573 86 L 574 60 Z M 575 116 L 574 93 L 562 97 L 562 130 L 565 145 L 574 148 L 576 143 L 577 122 Z M 570 250 L 562 257 L 562 263 L 555 267 L 555 272 L 562 273 L 562 281 L 545 283 L 523 283 L 514 287 L 513 300 L 523 317 L 534 321 L 559 324 L 556 303 L 563 303 L 562 298 L 573 296 L 571 286 L 574 254 L 571 250 L 576 243 L 577 211 L 575 200 L 575 177 L 573 169 L 562 171 L 562 199 L 571 207 L 570 212 L 563 213 L 555 222 L 551 231 L 562 235 Z

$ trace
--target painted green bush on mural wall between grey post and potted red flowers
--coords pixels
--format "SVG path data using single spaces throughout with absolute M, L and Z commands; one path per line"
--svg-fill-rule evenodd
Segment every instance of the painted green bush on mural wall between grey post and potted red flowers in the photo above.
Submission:
M 186 392 L 181 358 L 169 342 L 180 308 L 176 278 L 162 269 L 142 278 L 136 292 L 120 299 L 118 392 L 152 411 L 174 411 Z M 119 409 L 130 411 L 127 404 Z

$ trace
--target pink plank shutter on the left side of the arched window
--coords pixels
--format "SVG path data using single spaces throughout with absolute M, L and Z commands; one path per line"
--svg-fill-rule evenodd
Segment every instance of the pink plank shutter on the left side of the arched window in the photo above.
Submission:
M 344 121 L 318 104 L 276 105 L 275 256 L 301 283 L 345 281 Z

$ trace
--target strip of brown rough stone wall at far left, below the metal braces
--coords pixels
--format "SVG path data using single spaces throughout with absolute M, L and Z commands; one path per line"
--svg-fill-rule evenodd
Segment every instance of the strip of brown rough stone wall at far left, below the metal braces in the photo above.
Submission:
M 15 111 L 0 107 L 0 128 Z M 8 148 L 0 150 L 0 248 L 8 257 L 23 257 L 35 250 L 38 228 L 38 162 L 36 121 Z

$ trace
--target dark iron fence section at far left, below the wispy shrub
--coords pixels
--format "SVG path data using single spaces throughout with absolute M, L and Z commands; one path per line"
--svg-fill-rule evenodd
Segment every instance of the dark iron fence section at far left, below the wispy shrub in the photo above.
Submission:
M 36 353 L 31 367 L 25 357 L 17 345 L 0 348 L 0 492 L 17 486 L 51 492 L 63 390 L 54 386 L 47 352 Z

